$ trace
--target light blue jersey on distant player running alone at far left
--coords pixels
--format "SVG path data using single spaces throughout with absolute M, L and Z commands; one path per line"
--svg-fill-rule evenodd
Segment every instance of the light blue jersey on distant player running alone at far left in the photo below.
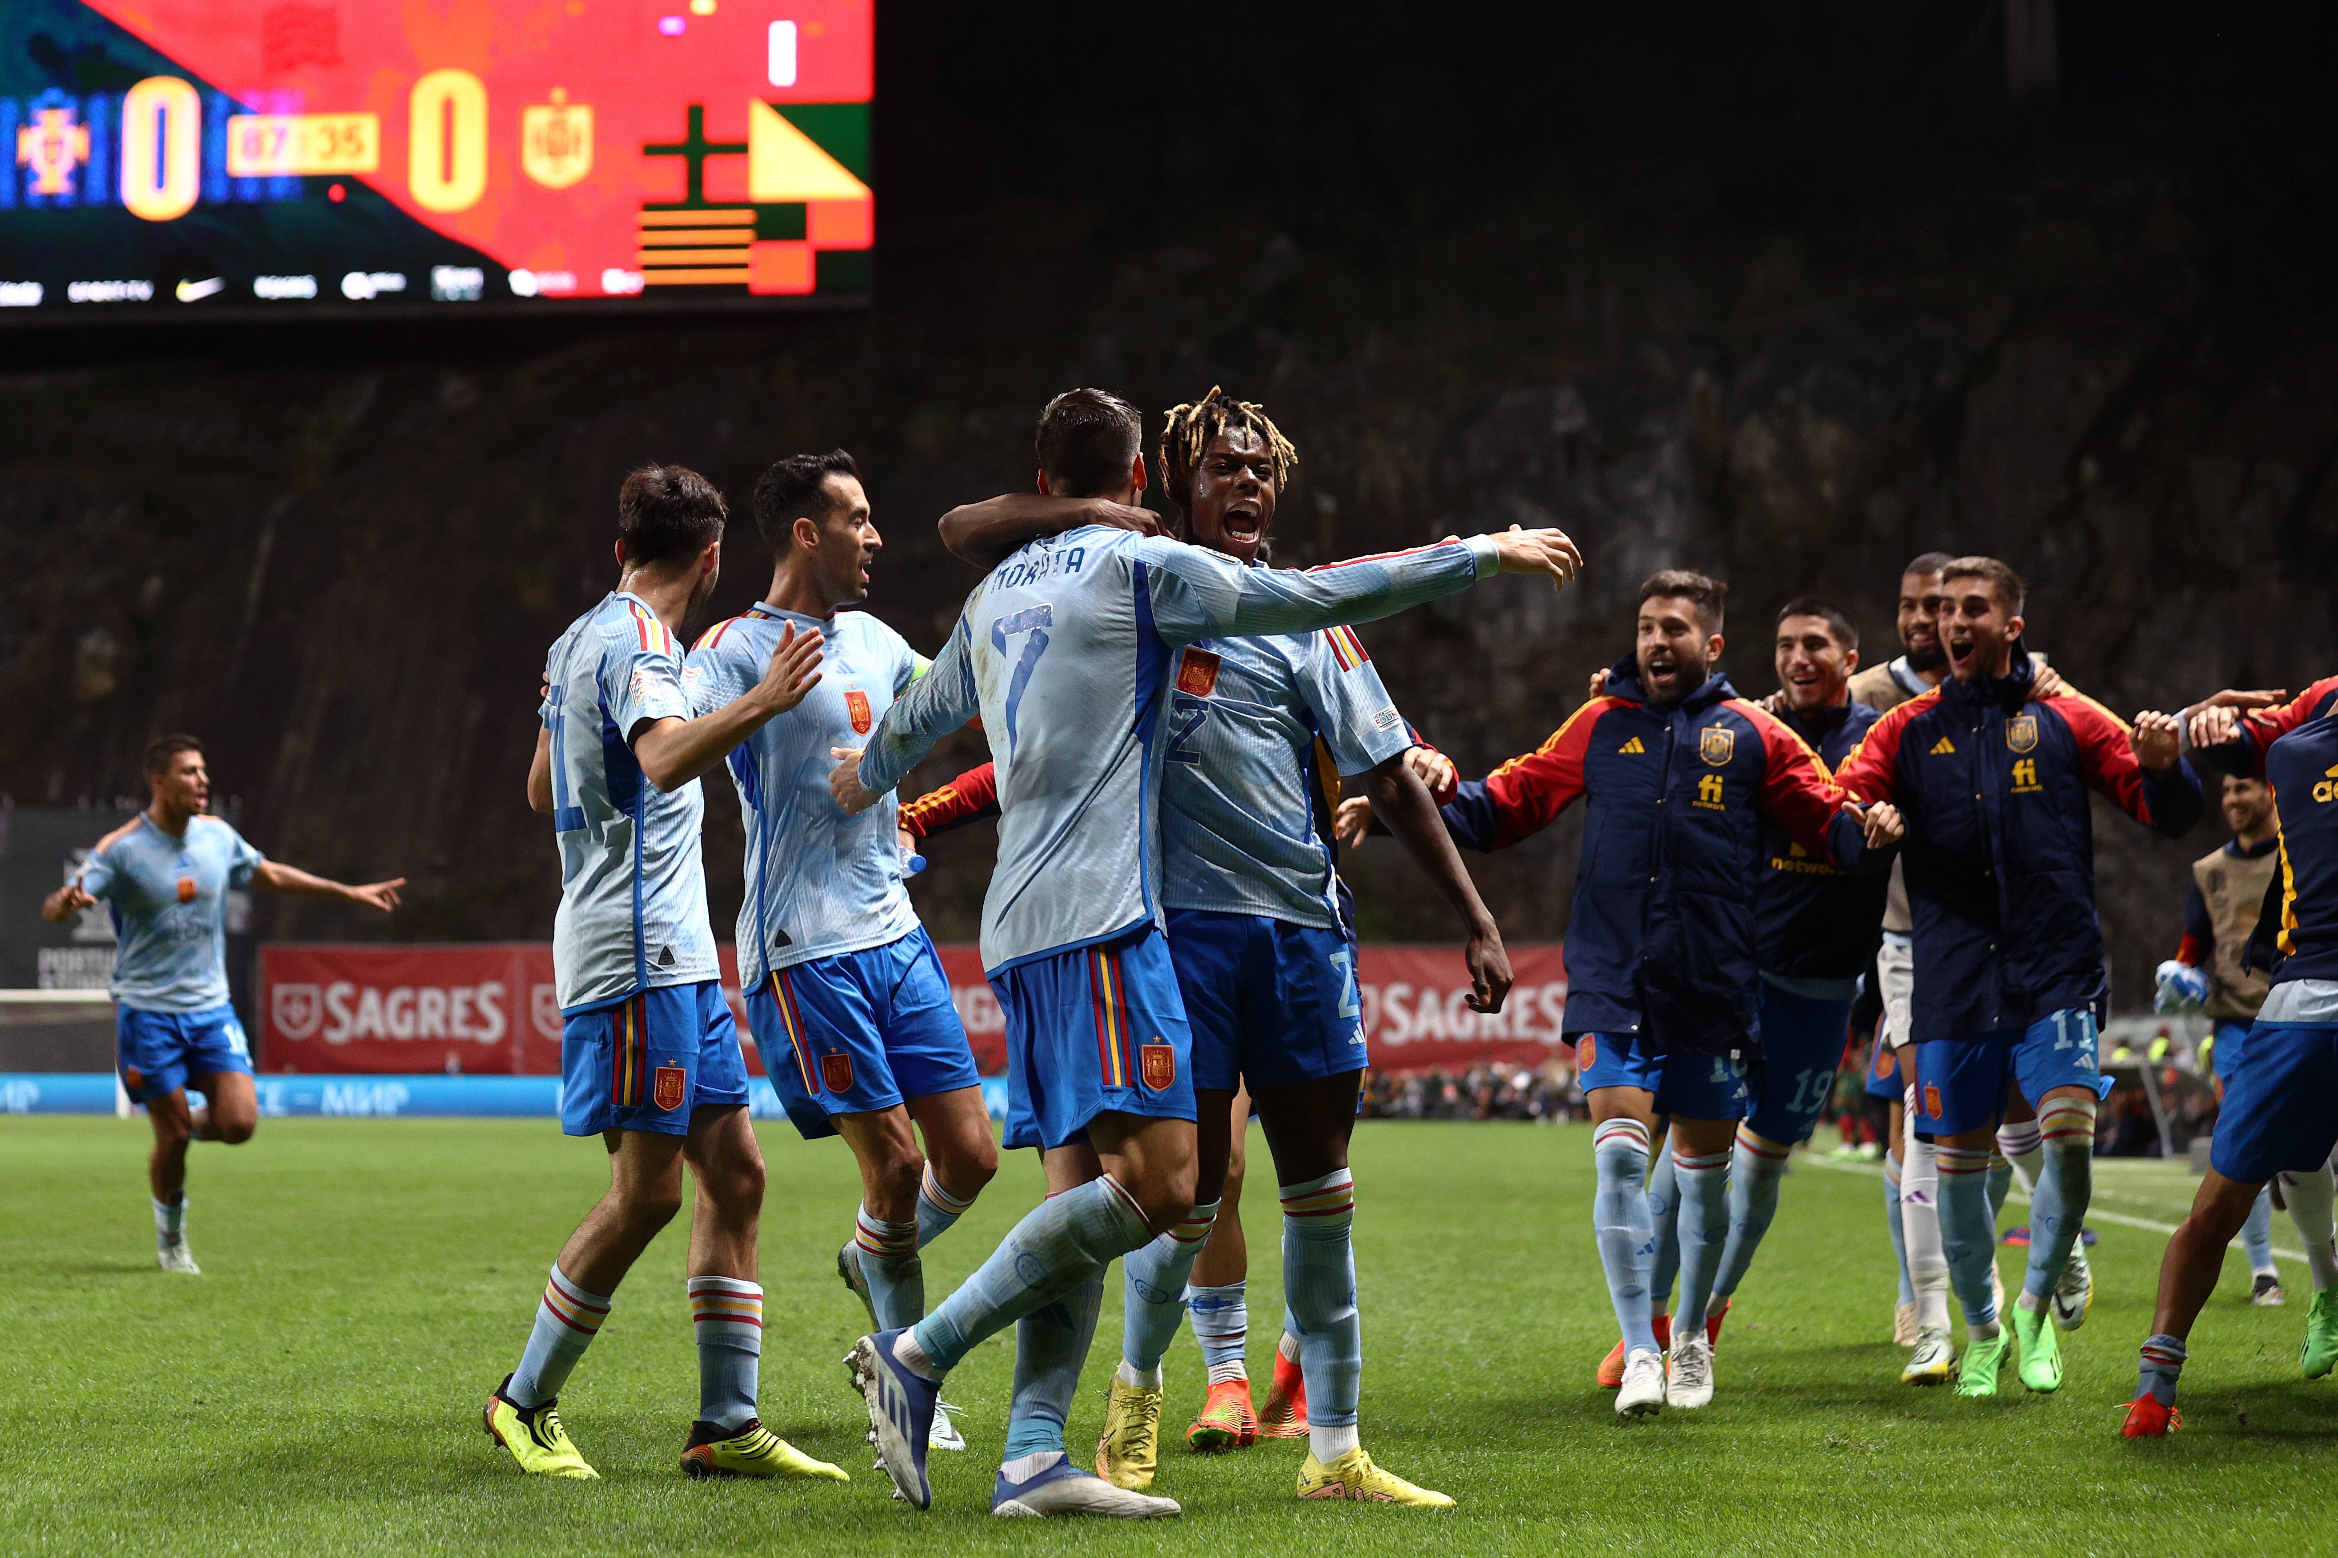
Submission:
M 222 818 L 189 818 L 171 836 L 140 815 L 105 836 L 82 890 L 115 920 L 115 1000 L 138 1011 L 227 1004 L 227 890 L 267 860 Z

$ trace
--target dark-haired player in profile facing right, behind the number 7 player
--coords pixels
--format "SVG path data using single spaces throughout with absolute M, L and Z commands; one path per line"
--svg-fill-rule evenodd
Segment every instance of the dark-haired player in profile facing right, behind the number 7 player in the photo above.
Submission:
M 842 1135 L 860 1163 L 837 1275 L 872 1329 L 895 1329 L 926 1317 L 919 1250 L 998 1173 L 949 976 L 902 888 L 893 799 L 849 818 L 828 794 L 830 750 L 865 740 L 924 661 L 870 612 L 837 610 L 867 600 L 884 547 L 849 453 L 767 470 L 755 528 L 776 554 L 772 589 L 699 638 L 683 680 L 711 712 L 755 684 L 790 628 L 821 635 L 818 687 L 729 754 L 746 825 L 739 983 L 797 1133 Z M 935 1418 L 935 1446 L 966 1441 Z

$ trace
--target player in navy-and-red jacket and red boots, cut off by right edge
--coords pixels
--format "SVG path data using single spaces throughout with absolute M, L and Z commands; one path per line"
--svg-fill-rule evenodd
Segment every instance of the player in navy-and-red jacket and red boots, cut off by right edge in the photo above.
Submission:
M 2315 1259 L 2315 1299 L 2305 1313 L 2298 1371 L 2322 1378 L 2338 1364 L 2338 1287 L 2329 1275 L 2329 1159 L 2338 1147 L 2338 677 L 2242 722 L 2230 710 L 2193 717 L 2193 750 L 2207 761 L 2261 773 L 2275 804 L 2280 869 L 2259 923 L 2270 941 L 2273 979 L 2240 1053 L 2216 1044 L 2223 1110 L 2207 1180 L 2160 1261 L 2158 1306 L 2144 1338 L 2128 1439 L 2160 1437 L 2184 1425 L 2177 1380 L 2200 1306 L 2216 1292 L 2223 1250 L 2249 1219 L 2266 1182 L 2296 1175 L 2312 1182 L 2319 1229 L 2305 1240 Z M 2207 715 L 2207 717 L 2202 717 Z M 2221 717 L 2219 717 L 2221 715 Z M 2235 729 L 2237 724 L 2237 729 Z M 2296 1201 L 2291 1201 L 2296 1212 Z M 2298 1217 L 2301 1231 L 2308 1222 Z

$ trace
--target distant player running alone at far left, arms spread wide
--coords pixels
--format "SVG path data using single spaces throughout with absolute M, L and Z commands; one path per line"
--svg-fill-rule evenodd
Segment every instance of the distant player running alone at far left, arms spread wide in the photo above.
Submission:
M 210 771 L 194 736 L 164 736 L 145 750 L 150 801 L 89 850 L 89 860 L 40 913 L 63 925 L 103 902 L 115 923 L 115 1065 L 122 1086 L 147 1107 L 154 1152 L 154 1264 L 203 1275 L 187 1247 L 187 1145 L 253 1140 L 260 1098 L 243 1023 L 227 1004 L 227 890 L 260 883 L 285 897 L 332 897 L 388 913 L 400 876 L 348 888 L 278 864 L 243 841 L 210 806 Z M 203 1096 L 187 1107 L 187 1088 Z

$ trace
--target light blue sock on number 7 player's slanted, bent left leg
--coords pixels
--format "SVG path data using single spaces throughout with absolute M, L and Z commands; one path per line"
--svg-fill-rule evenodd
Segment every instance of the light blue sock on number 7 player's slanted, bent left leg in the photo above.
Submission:
M 1061 1299 L 1150 1238 L 1136 1201 L 1111 1175 L 1047 1196 L 1008 1231 L 959 1292 L 916 1322 L 916 1348 L 935 1376 L 947 1373 L 977 1343 L 1040 1303 Z

